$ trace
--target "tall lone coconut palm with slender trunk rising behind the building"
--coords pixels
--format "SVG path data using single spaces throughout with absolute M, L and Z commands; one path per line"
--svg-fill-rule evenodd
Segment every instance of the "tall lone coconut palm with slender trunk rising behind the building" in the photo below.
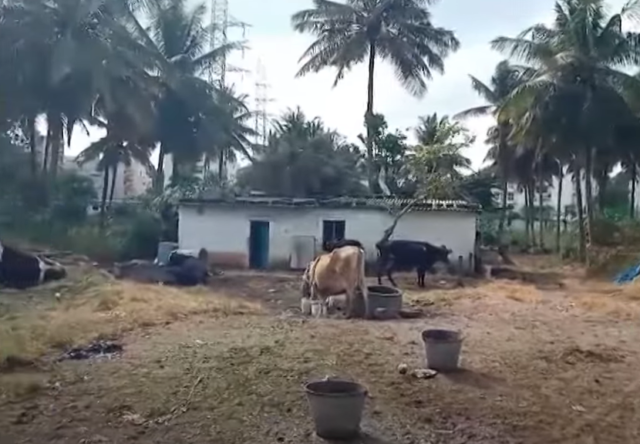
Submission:
M 435 27 L 424 0 L 314 0 L 314 7 L 291 18 L 297 32 L 316 40 L 300 58 L 298 76 L 336 69 L 337 84 L 356 64 L 367 61 L 367 178 L 375 187 L 372 125 L 376 58 L 389 61 L 402 85 L 416 97 L 427 90 L 433 71 L 444 71 L 444 59 L 460 46 L 454 33 Z

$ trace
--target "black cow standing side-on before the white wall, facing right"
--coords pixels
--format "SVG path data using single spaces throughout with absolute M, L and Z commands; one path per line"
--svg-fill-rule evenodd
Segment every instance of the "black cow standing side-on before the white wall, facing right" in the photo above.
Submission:
M 428 242 L 392 240 L 376 244 L 378 250 L 378 285 L 382 285 L 382 272 L 394 287 L 397 287 L 391 273 L 411 271 L 418 274 L 418 286 L 424 287 L 424 276 L 436 262 L 449 263 L 451 250 L 444 245 L 437 247 Z

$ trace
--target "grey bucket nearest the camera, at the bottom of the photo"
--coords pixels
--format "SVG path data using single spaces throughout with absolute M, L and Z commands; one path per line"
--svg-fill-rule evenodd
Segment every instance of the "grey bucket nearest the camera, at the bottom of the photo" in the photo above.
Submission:
M 357 382 L 327 379 L 304 387 L 315 424 L 323 439 L 345 440 L 360 434 L 367 390 Z

